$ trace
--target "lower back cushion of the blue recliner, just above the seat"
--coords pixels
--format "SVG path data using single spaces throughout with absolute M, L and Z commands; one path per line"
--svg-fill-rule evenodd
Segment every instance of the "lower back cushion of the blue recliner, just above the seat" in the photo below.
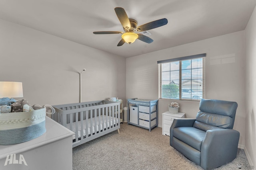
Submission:
M 196 120 L 202 123 L 206 123 L 208 125 L 221 127 L 221 128 L 229 128 L 233 123 L 232 118 L 229 116 L 218 115 L 214 113 L 207 113 L 204 111 L 199 111 L 197 113 Z

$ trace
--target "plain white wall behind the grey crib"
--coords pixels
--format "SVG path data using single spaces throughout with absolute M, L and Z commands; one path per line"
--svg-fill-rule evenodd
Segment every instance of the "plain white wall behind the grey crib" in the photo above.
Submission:
M 126 60 L 122 57 L 0 20 L 0 81 L 23 83 L 30 104 L 125 100 Z M 84 37 L 86 38 L 86 37 Z

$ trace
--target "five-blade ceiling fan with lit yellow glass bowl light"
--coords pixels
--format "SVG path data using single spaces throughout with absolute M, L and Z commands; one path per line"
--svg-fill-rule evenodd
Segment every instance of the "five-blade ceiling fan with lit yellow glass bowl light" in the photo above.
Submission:
M 122 39 L 118 43 L 117 46 L 123 45 L 125 42 L 128 44 L 133 43 L 136 39 L 144 41 L 145 43 L 152 43 L 153 39 L 143 35 L 142 31 L 147 31 L 150 29 L 154 29 L 157 27 L 161 27 L 168 23 L 166 18 L 162 18 L 160 20 L 151 21 L 140 25 L 137 27 L 137 21 L 131 18 L 128 18 L 124 8 L 116 7 L 115 8 L 116 15 L 123 26 L 124 32 L 122 31 L 96 31 L 94 34 L 122 34 Z

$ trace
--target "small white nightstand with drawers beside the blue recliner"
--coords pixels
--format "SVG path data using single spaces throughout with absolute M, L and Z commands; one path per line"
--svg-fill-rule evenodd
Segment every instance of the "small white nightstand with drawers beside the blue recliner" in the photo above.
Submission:
M 175 118 L 185 118 L 185 113 L 178 112 L 174 114 L 174 113 L 170 113 L 169 111 L 166 111 L 162 113 L 162 117 L 163 117 L 162 135 L 170 136 L 170 127 L 172 125 L 173 120 Z

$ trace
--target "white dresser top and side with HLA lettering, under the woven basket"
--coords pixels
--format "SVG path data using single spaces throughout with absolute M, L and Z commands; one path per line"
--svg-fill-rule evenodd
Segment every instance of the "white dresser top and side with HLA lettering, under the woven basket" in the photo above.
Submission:
M 36 139 L 15 145 L 0 145 L 0 170 L 72 170 L 74 133 L 47 116 L 45 123 L 46 133 Z M 10 159 L 11 154 L 12 161 L 7 161 L 4 166 L 6 157 L 9 155 Z

